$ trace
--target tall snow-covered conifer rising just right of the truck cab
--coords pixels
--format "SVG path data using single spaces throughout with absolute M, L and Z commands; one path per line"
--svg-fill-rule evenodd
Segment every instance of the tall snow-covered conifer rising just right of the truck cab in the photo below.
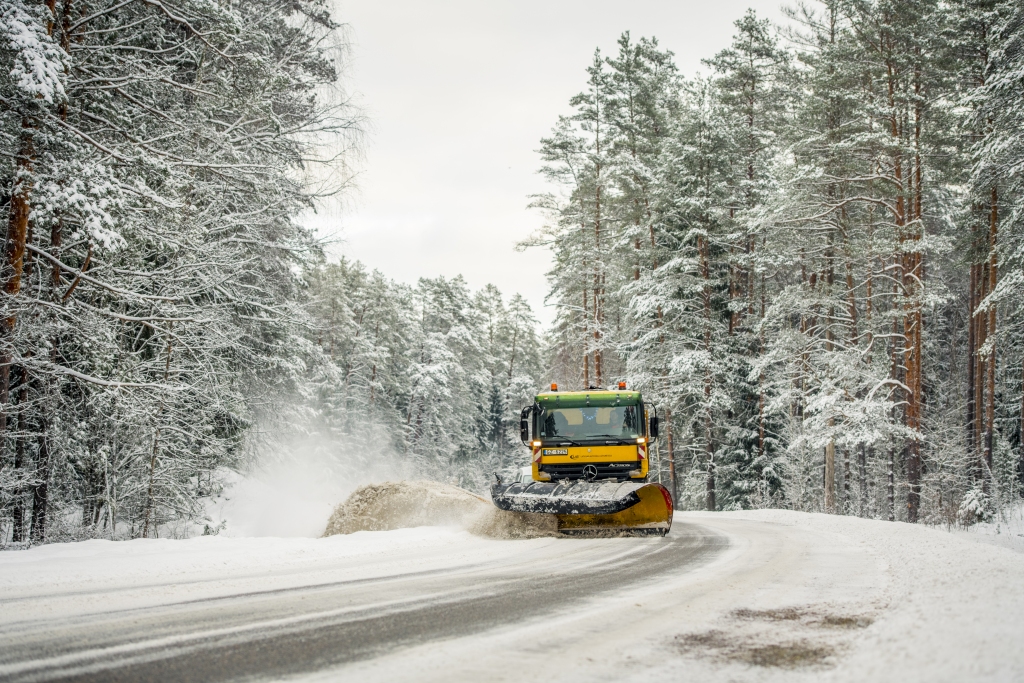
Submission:
M 656 221 L 671 258 L 630 291 L 635 319 L 657 308 L 663 319 L 634 342 L 630 375 L 665 396 L 681 505 L 710 510 L 735 503 L 737 478 L 734 463 L 721 462 L 733 437 L 730 380 L 739 360 L 728 334 L 728 205 L 737 156 L 730 133 L 715 85 L 687 84 L 655 188 Z

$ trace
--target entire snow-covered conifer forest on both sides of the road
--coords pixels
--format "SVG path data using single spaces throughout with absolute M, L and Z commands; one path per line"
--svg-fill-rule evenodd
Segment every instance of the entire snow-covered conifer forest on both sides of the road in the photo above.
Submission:
M 553 257 L 544 329 L 304 226 L 367 128 L 332 3 L 0 0 L 0 545 L 203 532 L 312 436 L 482 494 L 549 382 L 641 390 L 680 509 L 1015 504 L 1024 5 L 786 12 L 700 73 L 629 33 L 579 55 L 513 236 Z

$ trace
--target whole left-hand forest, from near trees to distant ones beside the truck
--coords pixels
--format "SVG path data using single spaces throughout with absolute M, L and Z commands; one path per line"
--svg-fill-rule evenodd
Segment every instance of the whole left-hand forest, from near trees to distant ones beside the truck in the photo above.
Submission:
M 475 487 L 510 453 L 525 302 L 329 266 L 297 220 L 359 142 L 339 29 L 326 0 L 0 0 L 0 546 L 197 532 L 282 439 Z

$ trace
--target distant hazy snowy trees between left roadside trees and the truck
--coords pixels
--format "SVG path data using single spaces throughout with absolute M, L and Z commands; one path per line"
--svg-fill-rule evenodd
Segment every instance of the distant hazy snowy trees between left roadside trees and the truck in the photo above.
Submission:
M 358 263 L 309 272 L 313 371 L 305 429 L 349 468 L 397 462 L 484 493 L 522 466 L 519 412 L 542 381 L 540 324 L 515 294 L 461 276 L 394 283 Z M 391 474 L 390 476 L 394 476 Z

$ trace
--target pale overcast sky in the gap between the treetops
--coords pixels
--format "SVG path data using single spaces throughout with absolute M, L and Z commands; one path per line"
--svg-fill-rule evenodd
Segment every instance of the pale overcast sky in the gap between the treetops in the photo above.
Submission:
M 394 280 L 462 273 L 525 296 L 538 317 L 547 252 L 514 251 L 542 217 L 536 150 L 584 87 L 595 47 L 656 37 L 685 76 L 728 46 L 748 7 L 777 0 L 336 0 L 350 28 L 346 81 L 372 121 L 358 189 L 309 222 L 345 255 Z

